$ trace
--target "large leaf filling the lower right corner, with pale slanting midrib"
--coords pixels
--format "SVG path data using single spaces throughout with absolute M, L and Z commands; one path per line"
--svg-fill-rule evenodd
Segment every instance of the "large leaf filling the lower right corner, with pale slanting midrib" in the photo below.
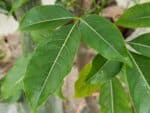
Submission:
M 137 113 L 150 113 L 150 58 L 130 54 L 133 67 L 126 66 L 130 94 Z

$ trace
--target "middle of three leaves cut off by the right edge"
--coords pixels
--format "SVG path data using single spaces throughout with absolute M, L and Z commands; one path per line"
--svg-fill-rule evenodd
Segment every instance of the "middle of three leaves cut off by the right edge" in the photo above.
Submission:
M 150 57 L 150 33 L 143 34 L 128 42 L 139 54 Z

